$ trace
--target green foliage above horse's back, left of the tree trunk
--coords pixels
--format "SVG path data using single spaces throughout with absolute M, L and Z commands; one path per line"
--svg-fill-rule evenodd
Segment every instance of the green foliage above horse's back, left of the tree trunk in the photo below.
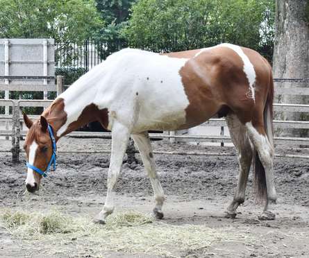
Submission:
M 151 51 L 230 42 L 268 54 L 273 26 L 273 0 L 140 0 L 122 34 L 131 46 Z

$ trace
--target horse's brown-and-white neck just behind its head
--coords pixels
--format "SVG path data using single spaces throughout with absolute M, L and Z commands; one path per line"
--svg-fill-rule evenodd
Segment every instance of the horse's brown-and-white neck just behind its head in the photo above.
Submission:
M 89 76 L 77 80 L 43 112 L 57 139 L 95 120 L 91 103 L 97 91 L 92 88 L 92 80 Z

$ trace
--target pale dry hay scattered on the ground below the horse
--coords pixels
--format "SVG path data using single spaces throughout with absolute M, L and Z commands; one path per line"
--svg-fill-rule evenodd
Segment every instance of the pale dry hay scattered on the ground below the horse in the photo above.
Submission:
M 184 252 L 207 249 L 216 242 L 241 241 L 247 246 L 253 243 L 245 231 L 235 234 L 231 228 L 169 225 L 131 211 L 111 215 L 102 226 L 92 223 L 90 218 L 74 218 L 57 211 L 29 214 L 6 210 L 1 214 L 1 223 L 13 236 L 26 239 L 31 250 L 46 248 L 48 255 L 74 252 L 95 256 L 115 251 L 180 257 Z

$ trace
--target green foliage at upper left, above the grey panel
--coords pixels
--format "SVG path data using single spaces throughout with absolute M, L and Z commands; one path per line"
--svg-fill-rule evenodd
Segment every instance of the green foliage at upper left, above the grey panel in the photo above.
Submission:
M 0 0 L 0 37 L 85 40 L 103 26 L 94 0 Z

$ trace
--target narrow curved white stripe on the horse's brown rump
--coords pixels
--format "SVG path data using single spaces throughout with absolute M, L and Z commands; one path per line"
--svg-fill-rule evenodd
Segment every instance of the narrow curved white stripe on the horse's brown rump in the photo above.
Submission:
M 253 98 L 253 101 L 256 101 L 256 92 L 254 89 L 254 83 L 256 83 L 256 71 L 254 71 L 254 67 L 247 55 L 244 53 L 244 51 L 242 51 L 242 48 L 240 46 L 228 43 L 219 44 L 218 46 L 226 46 L 229 49 L 235 51 L 240 56 L 240 58 L 242 58 L 242 62 L 244 62 L 244 74 L 246 74 L 249 81 L 249 88 L 252 94 L 251 97 Z

